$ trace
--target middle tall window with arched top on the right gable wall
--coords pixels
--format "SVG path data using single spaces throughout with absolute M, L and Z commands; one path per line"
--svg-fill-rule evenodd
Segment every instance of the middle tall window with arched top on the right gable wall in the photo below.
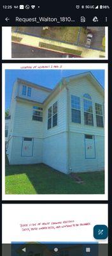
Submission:
M 84 95 L 83 109 L 84 109 L 84 122 L 85 122 L 85 125 L 94 125 L 92 100 L 91 100 L 90 95 L 88 95 L 88 94 Z

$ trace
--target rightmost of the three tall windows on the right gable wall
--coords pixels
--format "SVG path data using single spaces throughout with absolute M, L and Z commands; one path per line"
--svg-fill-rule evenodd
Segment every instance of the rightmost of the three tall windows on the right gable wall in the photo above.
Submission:
M 104 127 L 102 105 L 99 103 L 95 103 L 95 116 L 96 116 L 97 127 Z

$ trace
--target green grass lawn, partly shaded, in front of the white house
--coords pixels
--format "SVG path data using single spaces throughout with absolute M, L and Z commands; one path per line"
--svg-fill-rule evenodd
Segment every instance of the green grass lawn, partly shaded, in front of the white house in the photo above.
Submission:
M 45 164 L 9 165 L 6 159 L 6 194 L 104 194 L 104 172 L 78 176 L 85 183 Z

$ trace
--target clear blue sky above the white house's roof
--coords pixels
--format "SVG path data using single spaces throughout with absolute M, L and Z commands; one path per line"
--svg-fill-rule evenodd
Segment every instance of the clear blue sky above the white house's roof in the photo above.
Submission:
M 97 81 L 104 88 L 104 70 L 6 70 L 5 74 L 5 108 L 10 108 L 13 83 L 17 78 L 25 79 L 32 83 L 48 88 L 54 88 L 62 77 L 74 76 L 91 71 Z

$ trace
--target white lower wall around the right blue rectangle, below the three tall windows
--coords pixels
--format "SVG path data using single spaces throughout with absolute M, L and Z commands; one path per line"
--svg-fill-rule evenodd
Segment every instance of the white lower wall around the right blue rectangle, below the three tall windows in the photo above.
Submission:
M 72 172 L 104 170 L 104 137 L 95 136 L 95 159 L 86 159 L 84 134 L 71 132 L 70 162 Z

